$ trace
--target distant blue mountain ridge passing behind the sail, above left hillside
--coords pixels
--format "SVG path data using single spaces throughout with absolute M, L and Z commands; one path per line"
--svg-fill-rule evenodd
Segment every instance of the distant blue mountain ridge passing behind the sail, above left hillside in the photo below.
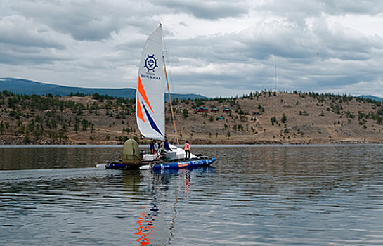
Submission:
M 34 82 L 28 79 L 16 78 L 0 78 L 0 91 L 11 91 L 16 94 L 25 95 L 46 95 L 51 93 L 53 96 L 69 96 L 71 93 L 84 93 L 85 95 L 93 95 L 98 93 L 100 95 L 115 96 L 121 98 L 135 98 L 136 89 L 100 89 L 100 88 L 82 88 L 59 86 L 56 84 L 45 84 L 41 82 Z M 165 93 L 165 100 L 169 98 Z M 197 94 L 171 94 L 171 98 L 175 99 L 205 99 L 205 96 Z

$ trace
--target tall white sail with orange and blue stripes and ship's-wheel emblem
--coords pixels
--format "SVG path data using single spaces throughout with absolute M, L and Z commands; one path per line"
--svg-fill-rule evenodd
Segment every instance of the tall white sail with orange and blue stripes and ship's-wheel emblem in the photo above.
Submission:
M 138 129 L 145 138 L 165 138 L 165 82 L 160 25 L 146 40 L 138 69 L 136 120 Z

